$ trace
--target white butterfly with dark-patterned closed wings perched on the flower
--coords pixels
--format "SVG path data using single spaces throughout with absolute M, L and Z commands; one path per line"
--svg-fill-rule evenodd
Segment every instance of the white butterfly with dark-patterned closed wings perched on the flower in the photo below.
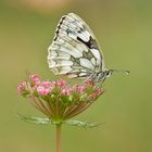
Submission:
M 90 78 L 103 83 L 113 72 L 106 69 L 97 39 L 89 26 L 76 14 L 68 13 L 59 22 L 55 36 L 48 48 L 49 68 L 54 75 Z

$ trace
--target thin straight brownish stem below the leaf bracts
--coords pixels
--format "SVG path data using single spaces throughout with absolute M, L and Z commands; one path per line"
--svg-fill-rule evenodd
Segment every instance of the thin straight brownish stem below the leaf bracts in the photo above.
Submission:
M 61 124 L 56 124 L 56 152 L 61 152 Z

